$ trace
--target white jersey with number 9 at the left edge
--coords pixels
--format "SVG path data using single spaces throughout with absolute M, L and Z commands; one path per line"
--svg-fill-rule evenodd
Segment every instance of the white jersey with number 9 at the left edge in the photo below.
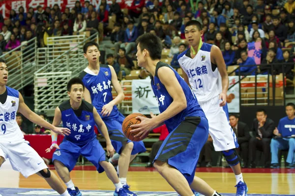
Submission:
M 7 98 L 4 104 L 0 103 L 0 142 L 15 142 L 24 138 L 16 122 L 16 113 L 19 107 L 19 92 L 7 87 Z

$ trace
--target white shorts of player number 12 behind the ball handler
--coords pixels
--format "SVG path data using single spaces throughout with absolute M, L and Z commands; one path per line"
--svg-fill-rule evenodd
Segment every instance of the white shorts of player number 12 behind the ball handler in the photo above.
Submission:
M 215 151 L 224 151 L 238 147 L 236 134 L 229 123 L 228 107 L 220 107 L 219 96 L 199 104 L 209 123 L 209 134 L 213 139 Z

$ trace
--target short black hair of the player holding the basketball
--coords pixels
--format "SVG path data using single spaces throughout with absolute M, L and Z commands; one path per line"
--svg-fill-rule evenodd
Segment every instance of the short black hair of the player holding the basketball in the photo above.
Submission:
M 162 42 L 160 38 L 151 33 L 146 33 L 139 36 L 136 40 L 136 45 L 139 44 L 141 51 L 148 50 L 149 56 L 152 60 L 161 59 L 162 56 Z

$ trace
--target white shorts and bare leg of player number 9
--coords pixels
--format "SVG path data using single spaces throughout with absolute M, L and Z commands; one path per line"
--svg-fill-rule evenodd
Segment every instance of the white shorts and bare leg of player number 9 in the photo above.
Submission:
M 62 186 L 56 174 L 48 170 L 43 159 L 27 143 L 20 142 L 18 145 L 10 145 L 8 143 L 5 144 L 5 146 L 5 152 L 15 171 L 21 172 L 26 178 L 36 173 L 43 177 L 50 187 L 57 191 L 59 195 L 70 196 L 67 190 Z M 2 144 L 0 144 L 0 149 L 3 149 Z

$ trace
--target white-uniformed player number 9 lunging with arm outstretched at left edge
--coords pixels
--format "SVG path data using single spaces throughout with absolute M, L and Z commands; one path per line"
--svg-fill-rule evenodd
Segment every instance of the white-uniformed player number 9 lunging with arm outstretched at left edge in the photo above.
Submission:
M 6 86 L 7 80 L 7 65 L 4 60 L 0 59 L 0 116 L 2 116 L 0 119 L 0 167 L 5 159 L 9 158 L 13 170 L 21 172 L 26 178 L 37 174 L 43 177 L 60 196 L 70 196 L 58 176 L 48 170 L 43 159 L 28 145 L 29 142 L 25 141 L 16 122 L 16 113 L 19 111 L 32 123 L 46 127 L 52 132 L 64 135 L 69 134 L 70 130 L 53 126 L 32 112 L 26 105 L 23 96 L 17 90 Z

